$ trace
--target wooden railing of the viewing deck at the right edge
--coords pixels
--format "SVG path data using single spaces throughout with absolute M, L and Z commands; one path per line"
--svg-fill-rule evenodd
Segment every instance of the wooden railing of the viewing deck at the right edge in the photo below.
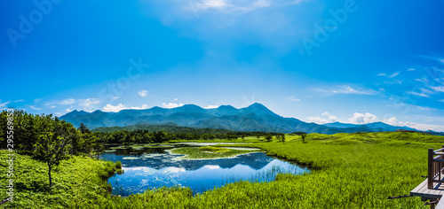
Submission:
M 434 157 L 437 155 L 436 157 Z M 442 179 L 444 178 L 444 146 L 441 149 L 433 151 L 432 148 L 429 148 L 429 156 L 428 156 L 428 189 L 433 189 L 433 182 L 443 183 Z

